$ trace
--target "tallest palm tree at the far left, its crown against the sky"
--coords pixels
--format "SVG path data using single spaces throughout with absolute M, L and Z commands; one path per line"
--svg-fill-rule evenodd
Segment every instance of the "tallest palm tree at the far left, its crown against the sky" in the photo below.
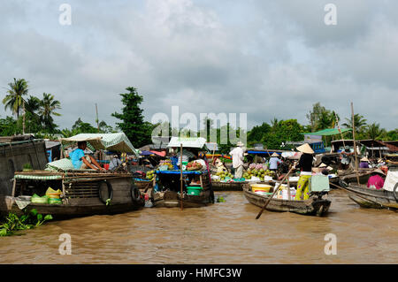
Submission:
M 8 86 L 10 87 L 7 90 L 8 94 L 3 99 L 4 110 L 10 109 L 12 114 L 17 115 L 18 119 L 20 108 L 24 103 L 22 96 L 27 95 L 27 80 L 14 78 L 14 82 L 9 83 Z

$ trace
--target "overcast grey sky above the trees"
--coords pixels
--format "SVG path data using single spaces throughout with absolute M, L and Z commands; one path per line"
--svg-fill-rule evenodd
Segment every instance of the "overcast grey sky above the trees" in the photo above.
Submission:
M 72 25 L 59 23 L 61 4 Z M 337 25 L 325 25 L 325 4 Z M 61 102 L 60 128 L 77 118 L 114 126 L 119 93 L 157 112 L 248 114 L 308 124 L 314 103 L 354 111 L 392 130 L 398 118 L 398 2 L 374 0 L 16 1 L 0 9 L 0 87 L 15 77 L 30 95 Z M 0 117 L 11 115 L 0 107 Z M 182 125 L 183 126 L 183 125 Z

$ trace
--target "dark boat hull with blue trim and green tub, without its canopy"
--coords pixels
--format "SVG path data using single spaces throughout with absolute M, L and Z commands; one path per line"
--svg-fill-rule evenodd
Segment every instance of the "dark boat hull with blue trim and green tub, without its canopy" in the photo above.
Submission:
M 151 202 L 154 207 L 198 208 L 214 203 L 214 192 L 208 171 L 182 171 L 183 193 L 180 194 L 180 171 L 156 171 L 157 177 L 151 189 Z M 190 184 L 194 178 L 200 184 Z M 157 180 L 158 179 L 158 180 Z M 187 187 L 202 187 L 198 195 L 188 194 Z

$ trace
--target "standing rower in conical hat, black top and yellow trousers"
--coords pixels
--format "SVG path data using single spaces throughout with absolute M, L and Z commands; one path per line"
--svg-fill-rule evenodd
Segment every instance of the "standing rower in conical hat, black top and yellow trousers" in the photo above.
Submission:
M 309 182 L 312 175 L 312 161 L 314 150 L 310 148 L 308 143 L 303 144 L 296 148 L 299 152 L 302 152 L 298 164 L 294 164 L 293 167 L 300 168 L 300 178 L 297 182 L 297 191 L 295 194 L 295 200 L 307 200 L 310 198 Z

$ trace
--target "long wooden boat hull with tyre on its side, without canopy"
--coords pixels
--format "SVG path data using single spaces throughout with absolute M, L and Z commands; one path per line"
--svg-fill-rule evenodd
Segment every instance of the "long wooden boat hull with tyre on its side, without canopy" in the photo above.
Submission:
M 61 190 L 62 203 L 24 202 L 33 194 L 45 194 L 48 187 Z M 19 204 L 27 206 L 21 210 Z M 131 173 L 98 171 L 22 171 L 15 172 L 11 196 L 5 196 L 4 214 L 22 215 L 35 209 L 55 219 L 116 214 L 144 206 L 142 194 L 135 187 Z

